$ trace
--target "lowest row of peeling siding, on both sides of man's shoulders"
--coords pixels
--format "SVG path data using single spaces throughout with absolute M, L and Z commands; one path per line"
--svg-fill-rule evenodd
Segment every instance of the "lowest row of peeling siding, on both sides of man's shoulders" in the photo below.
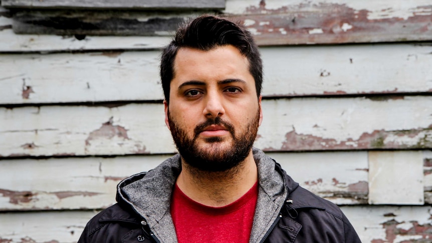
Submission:
M 432 238 L 430 206 L 343 206 L 361 242 L 428 242 Z M 52 211 L 0 213 L 0 241 L 77 242 L 97 212 Z M 423 239 L 423 241 L 421 241 Z M 405 241 L 404 241 L 405 240 Z

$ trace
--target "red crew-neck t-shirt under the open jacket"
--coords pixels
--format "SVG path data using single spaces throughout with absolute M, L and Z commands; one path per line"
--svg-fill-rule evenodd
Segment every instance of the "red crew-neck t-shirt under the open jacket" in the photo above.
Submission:
M 177 185 L 171 200 L 171 216 L 179 243 L 249 242 L 258 198 L 258 182 L 237 201 L 210 207 L 186 196 Z

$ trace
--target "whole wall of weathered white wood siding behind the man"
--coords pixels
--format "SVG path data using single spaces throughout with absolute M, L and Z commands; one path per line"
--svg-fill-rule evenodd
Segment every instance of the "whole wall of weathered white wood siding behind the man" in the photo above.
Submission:
M 160 50 L 177 23 L 208 9 L 1 2 L 37 8 L 0 7 L 0 242 L 76 242 L 115 203 L 122 179 L 176 152 Z M 213 3 L 225 8 L 210 11 L 243 22 L 260 45 L 255 146 L 340 205 L 362 242 L 432 241 L 430 0 Z M 73 32 L 83 23 L 99 29 Z M 14 33 L 21 27 L 60 36 Z

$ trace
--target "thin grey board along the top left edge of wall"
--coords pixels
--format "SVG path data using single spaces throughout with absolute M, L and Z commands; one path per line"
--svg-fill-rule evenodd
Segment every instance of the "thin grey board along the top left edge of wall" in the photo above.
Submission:
M 5 8 L 26 9 L 224 9 L 224 0 L 2 0 Z

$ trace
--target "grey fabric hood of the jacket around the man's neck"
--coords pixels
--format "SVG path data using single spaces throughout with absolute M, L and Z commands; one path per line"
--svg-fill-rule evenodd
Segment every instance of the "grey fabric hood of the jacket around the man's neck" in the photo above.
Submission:
M 288 190 L 294 190 L 298 184 L 287 188 L 280 166 L 259 149 L 253 148 L 253 154 L 258 167 L 259 193 L 250 242 L 260 242 L 279 217 Z M 117 188 L 117 201 L 129 204 L 141 215 L 161 243 L 177 242 L 169 207 L 180 171 L 180 156 L 176 154 L 153 170 L 124 179 Z

